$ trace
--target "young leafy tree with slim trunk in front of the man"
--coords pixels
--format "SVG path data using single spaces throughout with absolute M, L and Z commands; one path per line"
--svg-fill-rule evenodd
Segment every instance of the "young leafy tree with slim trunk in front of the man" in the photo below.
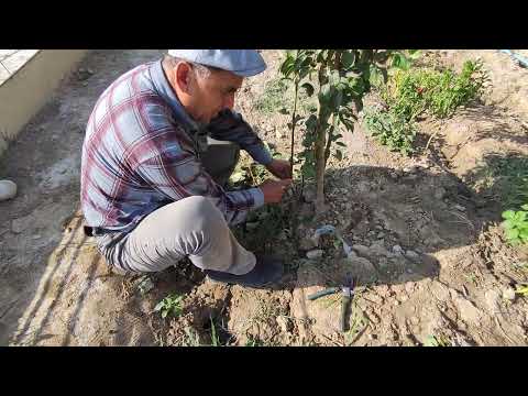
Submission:
M 290 161 L 293 166 L 295 127 L 302 121 L 306 128 L 304 150 L 297 158 L 301 163 L 302 178 L 316 182 L 317 213 L 324 210 L 324 169 L 328 158 L 331 154 L 338 161 L 343 157 L 339 148 L 333 153 L 331 148 L 345 145 L 340 141 L 340 131 L 353 131 L 356 113 L 363 108 L 363 97 L 371 86 L 380 86 L 387 79 L 387 62 L 400 65 L 407 62 L 407 55 L 393 50 L 296 50 L 286 53 L 279 69 L 295 90 L 289 124 Z M 317 95 L 317 106 L 311 108 L 311 113 L 306 118 L 297 114 L 300 88 L 306 91 L 307 98 Z

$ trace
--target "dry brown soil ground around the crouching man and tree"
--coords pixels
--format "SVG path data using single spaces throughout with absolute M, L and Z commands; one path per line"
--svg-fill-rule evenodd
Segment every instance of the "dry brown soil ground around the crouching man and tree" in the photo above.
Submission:
M 80 147 L 98 96 L 119 75 L 162 51 L 94 51 L 0 158 L 1 178 L 19 185 L 0 204 L 0 344 L 11 345 L 526 345 L 528 302 L 513 295 L 527 282 L 526 252 L 504 242 L 497 158 L 528 155 L 528 72 L 494 51 L 428 51 L 424 63 L 460 68 L 481 57 L 492 86 L 481 102 L 448 120 L 419 123 L 413 157 L 389 152 L 359 125 L 346 155 L 330 161 L 329 209 L 314 215 L 290 197 L 264 208 L 256 229 L 235 230 L 248 248 L 283 257 L 286 274 L 253 290 L 204 279 L 188 263 L 148 278 L 113 274 L 79 212 Z M 276 81 L 280 51 L 263 52 L 268 69 L 244 82 L 238 110 L 285 157 L 289 91 Z M 525 54 L 526 55 L 526 54 Z M 275 89 L 276 94 L 273 94 Z M 272 92 L 272 94 L 270 94 Z M 301 130 L 300 130 L 301 132 Z M 299 139 L 298 139 L 299 140 Z M 298 144 L 298 142 L 297 142 Z M 266 217 L 267 216 L 267 217 Z M 321 258 L 307 251 L 315 230 L 337 227 L 355 252 L 323 239 Z M 359 276 L 339 329 L 340 296 L 306 297 Z M 183 315 L 154 311 L 179 294 Z

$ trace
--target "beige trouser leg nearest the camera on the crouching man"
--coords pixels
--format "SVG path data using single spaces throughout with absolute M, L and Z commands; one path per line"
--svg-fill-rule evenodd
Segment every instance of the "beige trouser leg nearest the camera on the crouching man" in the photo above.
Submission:
M 188 197 L 166 205 L 128 234 L 97 238 L 99 251 L 118 270 L 163 271 L 187 256 L 197 267 L 249 273 L 256 258 L 234 238 L 221 211 L 206 197 Z

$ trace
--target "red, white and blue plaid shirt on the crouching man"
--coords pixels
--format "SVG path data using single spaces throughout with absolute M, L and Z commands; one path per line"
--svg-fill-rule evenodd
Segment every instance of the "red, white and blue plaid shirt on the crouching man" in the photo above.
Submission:
M 237 142 L 261 164 L 272 156 L 240 114 L 226 110 L 207 128 L 185 112 L 162 61 L 118 78 L 98 99 L 82 144 L 80 199 L 89 227 L 131 231 L 160 207 L 209 197 L 230 224 L 264 204 L 260 188 L 224 191 L 205 172 L 207 135 Z

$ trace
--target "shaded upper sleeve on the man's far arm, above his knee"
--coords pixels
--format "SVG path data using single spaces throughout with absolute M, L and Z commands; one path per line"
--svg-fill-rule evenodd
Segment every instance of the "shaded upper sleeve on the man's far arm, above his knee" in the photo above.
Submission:
M 212 139 L 238 143 L 253 160 L 262 165 L 268 165 L 272 154 L 242 116 L 231 110 L 223 110 L 208 125 L 208 134 Z

